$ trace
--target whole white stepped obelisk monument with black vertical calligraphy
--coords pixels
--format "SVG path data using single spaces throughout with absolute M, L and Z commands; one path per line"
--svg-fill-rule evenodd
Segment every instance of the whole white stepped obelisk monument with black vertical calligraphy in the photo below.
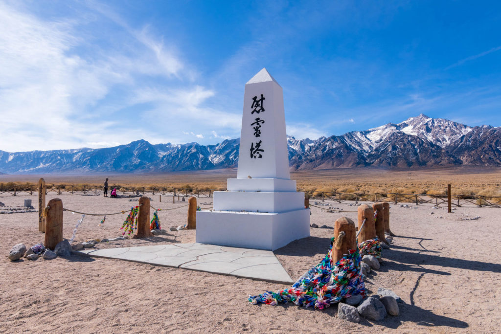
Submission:
M 282 87 L 266 69 L 245 84 L 236 179 L 197 211 L 196 242 L 275 250 L 310 236 L 310 210 L 289 174 Z

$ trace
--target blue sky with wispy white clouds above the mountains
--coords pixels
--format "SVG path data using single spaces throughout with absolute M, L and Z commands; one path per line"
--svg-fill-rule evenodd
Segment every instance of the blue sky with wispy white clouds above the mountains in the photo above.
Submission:
M 0 0 L 0 150 L 214 144 L 263 67 L 287 132 L 501 126 L 501 3 Z

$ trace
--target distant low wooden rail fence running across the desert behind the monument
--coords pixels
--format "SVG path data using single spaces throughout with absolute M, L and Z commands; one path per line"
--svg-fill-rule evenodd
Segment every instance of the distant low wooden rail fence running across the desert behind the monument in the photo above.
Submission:
M 104 191 L 103 186 L 97 185 L 47 185 L 46 194 L 71 193 L 71 194 L 100 194 Z M 167 196 L 196 196 L 196 197 L 212 197 L 214 191 L 223 191 L 220 189 L 196 189 L 196 188 L 176 188 L 176 187 L 125 187 L 125 186 L 110 186 L 109 189 L 116 188 L 122 194 L 158 194 Z M 0 195 L 11 194 L 13 196 L 22 194 L 36 194 L 38 193 L 38 186 L 12 186 L 0 189 Z M 448 205 L 449 199 L 447 195 L 428 195 L 428 194 L 402 194 L 402 193 L 338 193 L 338 192 L 322 192 L 322 191 L 305 191 L 307 196 L 313 200 L 325 201 L 327 199 L 337 203 L 346 201 L 366 201 L 366 202 L 379 202 L 385 201 L 394 204 L 398 203 L 412 203 L 415 205 L 420 204 L 434 204 L 439 206 L 441 204 Z M 482 196 L 482 195 L 451 195 L 450 203 L 456 207 L 468 206 L 473 204 L 477 207 L 490 206 L 501 207 L 501 196 Z

